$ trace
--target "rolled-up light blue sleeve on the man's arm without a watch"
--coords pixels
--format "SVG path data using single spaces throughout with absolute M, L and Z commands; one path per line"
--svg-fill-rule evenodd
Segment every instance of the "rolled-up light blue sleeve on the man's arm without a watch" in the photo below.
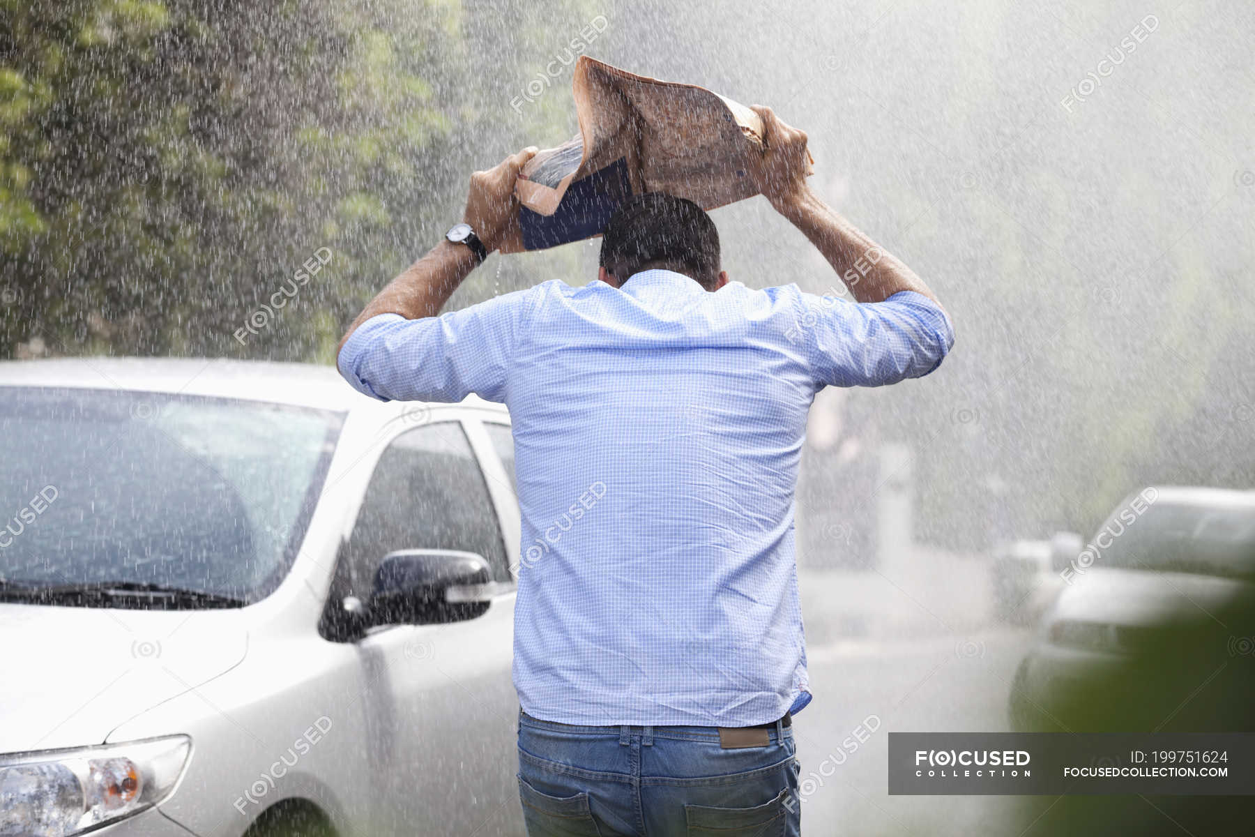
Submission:
M 954 345 L 954 326 L 936 302 L 900 291 L 884 302 L 851 302 L 802 294 L 797 334 L 816 381 L 828 387 L 881 387 L 922 378 Z

